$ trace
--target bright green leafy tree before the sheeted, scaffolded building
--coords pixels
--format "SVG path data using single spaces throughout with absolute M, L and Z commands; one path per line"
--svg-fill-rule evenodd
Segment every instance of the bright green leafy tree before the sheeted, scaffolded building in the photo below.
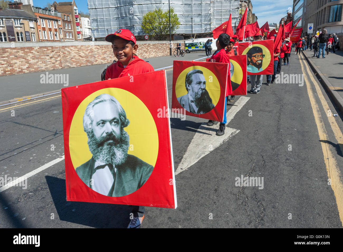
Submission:
M 174 33 L 180 26 L 179 18 L 174 13 L 174 8 L 170 8 L 170 30 Z M 142 30 L 144 33 L 157 37 L 158 40 L 169 34 L 169 12 L 163 12 L 161 8 L 155 9 L 143 15 Z

